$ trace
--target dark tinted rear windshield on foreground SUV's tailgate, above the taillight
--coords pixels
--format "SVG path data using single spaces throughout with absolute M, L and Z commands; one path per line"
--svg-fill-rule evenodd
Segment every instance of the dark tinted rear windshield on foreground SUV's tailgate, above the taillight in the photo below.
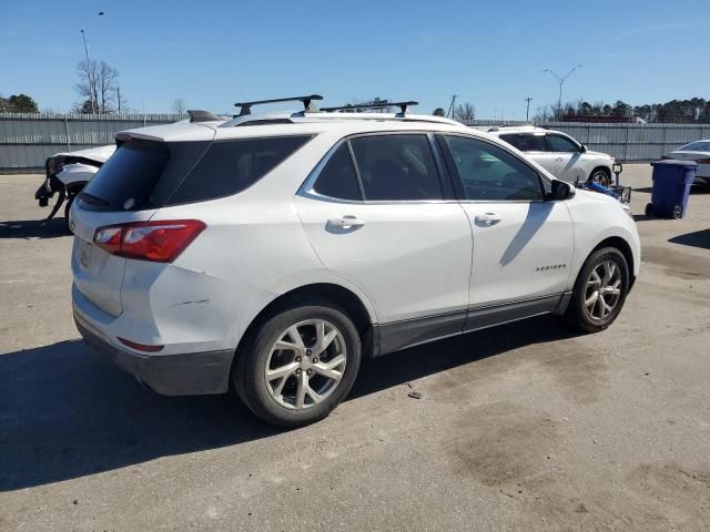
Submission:
M 115 211 L 151 208 L 151 194 L 170 158 L 160 142 L 122 144 L 82 191 L 82 206 Z

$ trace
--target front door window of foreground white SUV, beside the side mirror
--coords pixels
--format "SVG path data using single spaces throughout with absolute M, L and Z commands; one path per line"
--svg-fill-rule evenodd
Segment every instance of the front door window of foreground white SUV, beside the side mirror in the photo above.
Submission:
M 515 155 L 476 139 L 444 139 L 467 200 L 542 200 L 537 172 Z

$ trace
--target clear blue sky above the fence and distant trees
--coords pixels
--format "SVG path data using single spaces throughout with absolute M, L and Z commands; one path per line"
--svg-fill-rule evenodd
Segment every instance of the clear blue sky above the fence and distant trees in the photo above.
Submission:
M 329 104 L 415 99 L 430 113 L 458 94 L 479 117 L 521 119 L 526 96 L 531 113 L 557 99 L 542 70 L 577 63 L 565 100 L 710 98 L 707 0 L 3 3 L 0 93 L 57 111 L 78 101 L 80 29 L 138 111 L 320 92 Z

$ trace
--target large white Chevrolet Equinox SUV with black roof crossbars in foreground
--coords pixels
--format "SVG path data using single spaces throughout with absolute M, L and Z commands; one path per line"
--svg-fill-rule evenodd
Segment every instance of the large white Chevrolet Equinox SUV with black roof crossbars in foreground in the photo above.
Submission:
M 78 196 L 87 341 L 153 390 L 287 427 L 361 357 L 551 313 L 608 327 L 639 272 L 628 208 L 453 121 L 244 115 L 119 133 Z

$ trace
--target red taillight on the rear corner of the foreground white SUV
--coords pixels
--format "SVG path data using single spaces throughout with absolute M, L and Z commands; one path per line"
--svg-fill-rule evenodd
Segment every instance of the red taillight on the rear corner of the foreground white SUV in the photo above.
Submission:
M 205 227 L 199 219 L 106 225 L 95 231 L 93 242 L 112 255 L 171 263 Z

